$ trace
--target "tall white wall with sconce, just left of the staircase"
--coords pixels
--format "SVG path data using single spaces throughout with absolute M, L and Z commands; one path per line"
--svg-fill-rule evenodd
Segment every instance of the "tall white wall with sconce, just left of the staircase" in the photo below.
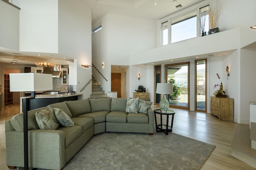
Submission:
M 72 66 L 72 84 L 84 99 L 90 98 L 92 83 L 82 88 L 92 78 L 92 68 L 82 64 L 92 63 L 91 9 L 83 0 L 59 0 L 58 3 L 58 53 L 76 60 Z M 70 81 L 71 82 L 71 81 Z M 80 92 L 82 90 L 82 92 Z

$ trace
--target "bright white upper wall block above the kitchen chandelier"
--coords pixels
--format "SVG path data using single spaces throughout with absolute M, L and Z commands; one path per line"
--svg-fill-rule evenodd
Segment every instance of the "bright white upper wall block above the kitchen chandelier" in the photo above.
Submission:
M 58 0 L 22 0 L 20 51 L 58 53 Z

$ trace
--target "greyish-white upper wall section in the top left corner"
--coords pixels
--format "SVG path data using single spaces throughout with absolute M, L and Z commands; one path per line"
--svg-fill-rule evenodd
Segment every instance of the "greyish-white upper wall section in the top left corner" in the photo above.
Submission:
M 0 1 L 0 48 L 19 50 L 20 10 Z

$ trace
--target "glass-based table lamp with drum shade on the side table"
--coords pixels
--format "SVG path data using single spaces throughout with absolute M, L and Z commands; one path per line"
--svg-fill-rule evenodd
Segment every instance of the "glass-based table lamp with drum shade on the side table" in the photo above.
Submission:
M 172 94 L 173 87 L 172 83 L 157 83 L 156 84 L 156 93 L 163 94 L 162 100 L 159 102 L 159 107 L 162 113 L 165 113 L 169 109 L 169 101 L 166 99 L 165 94 Z

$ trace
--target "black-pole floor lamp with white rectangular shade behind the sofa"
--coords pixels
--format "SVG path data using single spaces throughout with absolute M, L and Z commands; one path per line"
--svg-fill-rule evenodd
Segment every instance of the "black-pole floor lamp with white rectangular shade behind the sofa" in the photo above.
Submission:
M 28 107 L 35 92 L 52 90 L 52 74 L 10 73 L 10 92 L 31 92 L 30 98 L 22 99 L 24 131 L 24 169 L 28 170 Z

